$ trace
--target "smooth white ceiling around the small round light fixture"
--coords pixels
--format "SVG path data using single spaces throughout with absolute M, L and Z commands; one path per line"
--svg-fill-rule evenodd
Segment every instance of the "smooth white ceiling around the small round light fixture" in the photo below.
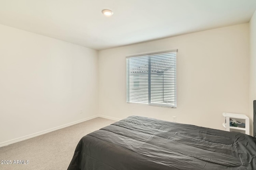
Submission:
M 0 0 L 0 24 L 101 50 L 246 23 L 255 10 L 256 0 Z

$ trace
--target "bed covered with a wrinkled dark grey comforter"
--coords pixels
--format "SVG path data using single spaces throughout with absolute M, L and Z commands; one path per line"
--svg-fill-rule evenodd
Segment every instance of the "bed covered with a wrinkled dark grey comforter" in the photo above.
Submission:
M 80 140 L 68 170 L 256 170 L 256 139 L 130 116 Z

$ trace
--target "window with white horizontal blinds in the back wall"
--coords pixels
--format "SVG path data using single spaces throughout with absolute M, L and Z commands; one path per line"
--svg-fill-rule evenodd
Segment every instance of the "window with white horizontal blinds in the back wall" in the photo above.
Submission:
M 176 53 L 126 58 L 127 103 L 176 108 Z

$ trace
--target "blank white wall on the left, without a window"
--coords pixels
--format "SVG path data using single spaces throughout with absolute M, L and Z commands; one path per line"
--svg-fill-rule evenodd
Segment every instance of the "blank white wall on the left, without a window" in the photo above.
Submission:
M 0 145 L 97 114 L 98 51 L 0 25 Z

